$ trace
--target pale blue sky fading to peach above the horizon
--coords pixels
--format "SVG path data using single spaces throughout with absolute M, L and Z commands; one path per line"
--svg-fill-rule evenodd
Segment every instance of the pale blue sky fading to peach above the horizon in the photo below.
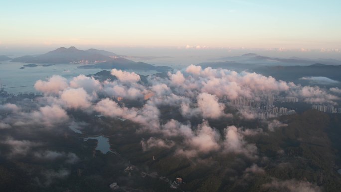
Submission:
M 341 0 L 2 0 L 0 4 L 0 46 L 341 48 Z

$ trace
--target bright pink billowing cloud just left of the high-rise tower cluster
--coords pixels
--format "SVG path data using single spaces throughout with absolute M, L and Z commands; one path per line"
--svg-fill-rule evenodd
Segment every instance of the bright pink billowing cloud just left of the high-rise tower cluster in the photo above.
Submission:
M 218 98 L 215 95 L 200 93 L 197 102 L 204 118 L 216 119 L 224 114 L 225 105 L 218 103 Z

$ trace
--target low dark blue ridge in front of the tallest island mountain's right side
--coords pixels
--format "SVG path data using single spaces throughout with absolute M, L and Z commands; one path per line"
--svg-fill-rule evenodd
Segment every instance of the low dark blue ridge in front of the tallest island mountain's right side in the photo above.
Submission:
M 81 69 L 121 69 L 121 70 L 155 70 L 159 72 L 168 71 L 171 67 L 166 66 L 154 66 L 144 62 L 134 62 L 125 58 L 116 58 L 111 61 L 96 63 L 94 65 L 83 65 L 79 66 Z

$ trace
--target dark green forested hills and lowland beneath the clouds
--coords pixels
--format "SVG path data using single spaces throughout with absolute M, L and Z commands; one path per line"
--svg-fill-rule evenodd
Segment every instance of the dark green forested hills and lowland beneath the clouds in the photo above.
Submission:
M 176 118 L 176 109 L 162 108 L 162 119 Z M 231 110 L 233 112 L 233 110 Z M 34 152 L 22 157 L 8 156 L 10 149 L 1 144 L 0 189 L 1 192 L 41 191 L 41 192 L 109 192 L 109 184 L 117 182 L 117 191 L 144 192 L 272 192 L 266 187 L 272 181 L 308 181 L 320 186 L 325 192 L 339 192 L 341 175 L 341 115 L 326 114 L 315 110 L 300 114 L 281 116 L 279 120 L 287 127 L 267 131 L 267 123 L 260 122 L 263 132 L 245 137 L 254 143 L 257 155 L 248 157 L 237 153 L 210 153 L 199 158 L 175 155 L 175 149 L 152 148 L 143 151 L 141 140 L 158 134 L 138 133 L 139 125 L 129 120 L 98 118 L 82 111 L 68 111 L 77 121 L 86 122 L 81 128 L 86 135 L 103 134 L 110 138 L 113 151 L 102 154 L 95 150 L 96 140 L 84 142 L 86 135 L 72 132 L 64 125 L 53 130 L 43 127 L 27 132 L 0 130 L 1 135 L 15 135 L 18 140 L 43 143 L 34 148 L 74 153 L 79 157 L 76 163 L 66 163 L 65 159 L 42 160 Z M 195 120 L 196 124 L 202 120 Z M 256 129 L 257 120 L 232 119 L 208 120 L 221 134 L 229 125 Z M 194 122 L 195 123 L 195 122 Z M 34 131 L 33 131 L 34 130 Z M 4 139 L 4 138 L 1 138 Z M 175 142 L 176 138 L 173 139 Z M 153 160 L 153 156 L 155 160 Z M 132 171 L 124 171 L 134 165 Z M 250 171 L 253 165 L 258 170 Z M 61 170 L 68 170 L 66 177 L 52 177 Z M 157 172 L 156 177 L 142 177 L 142 172 Z M 52 175 L 48 177 L 48 175 Z M 165 176 L 170 180 L 182 177 L 184 184 L 175 190 L 160 180 Z

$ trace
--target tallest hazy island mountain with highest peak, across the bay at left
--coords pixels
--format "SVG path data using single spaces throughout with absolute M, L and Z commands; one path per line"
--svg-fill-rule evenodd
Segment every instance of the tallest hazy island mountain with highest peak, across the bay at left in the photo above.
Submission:
M 87 51 L 79 50 L 76 47 L 60 47 L 56 50 L 38 56 L 23 56 L 14 58 L 12 61 L 26 63 L 82 63 L 84 61 L 99 62 L 109 61 L 113 58 L 100 54 L 101 50 L 89 49 Z M 105 51 L 105 54 L 110 52 Z M 114 53 L 112 53 L 114 54 Z

